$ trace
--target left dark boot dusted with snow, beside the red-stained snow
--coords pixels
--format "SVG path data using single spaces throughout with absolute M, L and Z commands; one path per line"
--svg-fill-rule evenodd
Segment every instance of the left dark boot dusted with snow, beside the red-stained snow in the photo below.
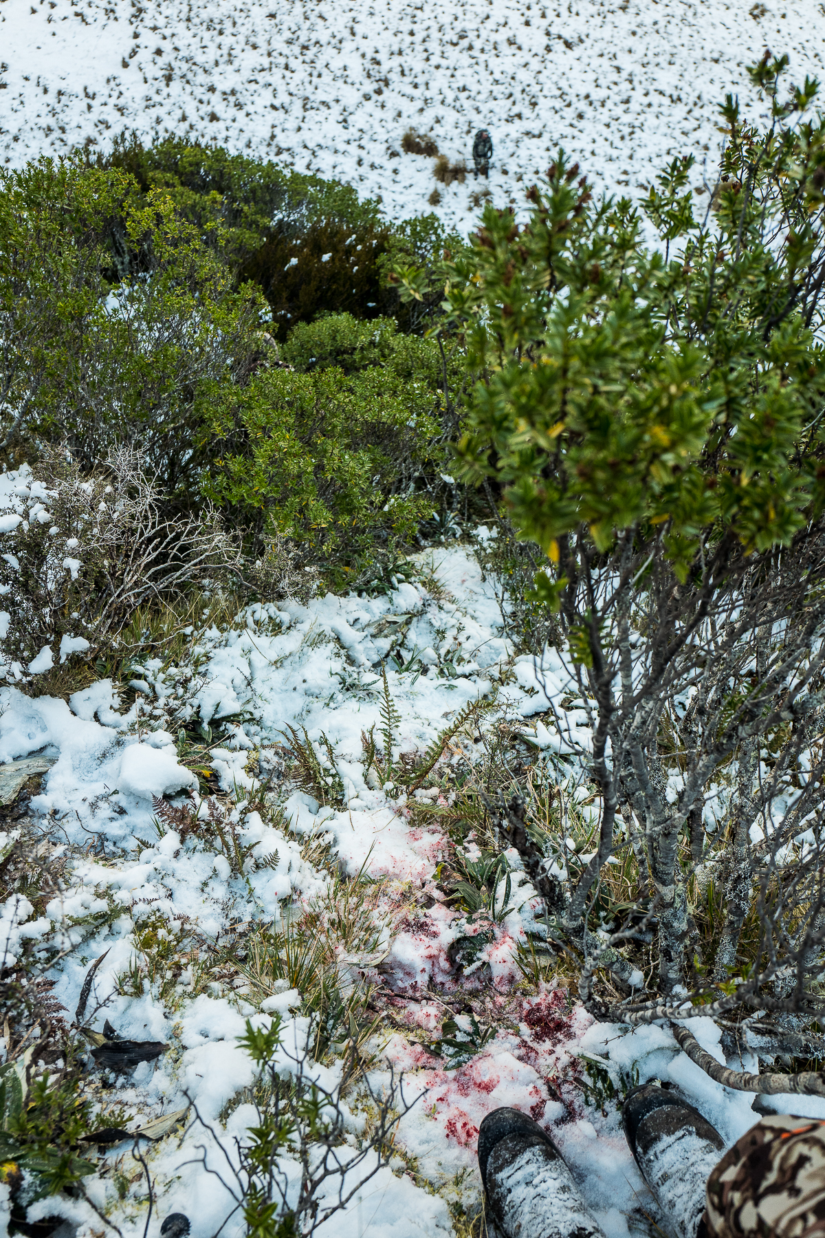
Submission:
M 487 1212 L 506 1238 L 605 1238 L 550 1136 L 518 1109 L 495 1109 L 479 1129 Z

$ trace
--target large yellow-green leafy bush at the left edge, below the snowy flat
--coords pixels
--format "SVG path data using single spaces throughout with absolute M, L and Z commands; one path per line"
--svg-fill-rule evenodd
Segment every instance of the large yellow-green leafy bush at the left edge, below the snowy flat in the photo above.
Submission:
M 192 488 L 195 392 L 247 363 L 259 296 L 161 189 L 72 161 L 0 172 L 1 446 L 66 441 L 92 468 L 140 444 L 167 493 Z

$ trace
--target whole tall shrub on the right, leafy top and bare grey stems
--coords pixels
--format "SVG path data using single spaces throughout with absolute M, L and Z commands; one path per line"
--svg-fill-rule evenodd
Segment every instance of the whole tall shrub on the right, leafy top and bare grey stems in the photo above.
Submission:
M 727 97 L 700 213 L 690 155 L 649 189 L 656 248 L 559 154 L 523 223 L 487 204 L 470 259 L 396 277 L 445 290 L 463 475 L 528 545 L 517 583 L 536 561 L 549 786 L 489 805 L 585 1008 L 673 1020 L 726 1086 L 825 1094 L 727 1071 L 683 1025 L 825 1055 L 825 119 L 787 63 L 751 69 L 769 129 Z

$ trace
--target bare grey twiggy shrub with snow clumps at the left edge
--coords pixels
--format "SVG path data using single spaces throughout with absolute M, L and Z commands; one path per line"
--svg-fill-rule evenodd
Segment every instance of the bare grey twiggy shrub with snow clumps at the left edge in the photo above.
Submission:
M 239 548 L 215 513 L 165 515 L 155 479 L 129 449 L 89 477 L 54 451 L 6 480 L 0 649 L 15 680 L 99 652 L 153 598 L 240 573 Z

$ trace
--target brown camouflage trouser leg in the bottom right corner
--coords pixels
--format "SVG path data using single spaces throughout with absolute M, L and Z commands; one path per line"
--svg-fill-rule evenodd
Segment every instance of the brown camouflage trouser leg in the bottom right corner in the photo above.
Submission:
M 825 1238 L 825 1122 L 773 1114 L 707 1179 L 712 1238 Z

